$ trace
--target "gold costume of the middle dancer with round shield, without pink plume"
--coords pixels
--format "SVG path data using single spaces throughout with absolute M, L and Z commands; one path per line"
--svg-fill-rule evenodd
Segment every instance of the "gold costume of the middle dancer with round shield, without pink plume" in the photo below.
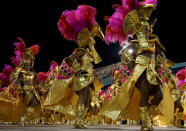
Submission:
M 101 28 L 97 23 L 95 23 L 91 32 L 84 28 L 78 33 L 77 43 L 79 48 L 76 48 L 73 54 L 65 58 L 62 65 L 58 67 L 57 78 L 51 84 L 43 104 L 45 109 L 60 112 L 66 118 L 76 118 L 75 128 L 85 127 L 83 120 L 88 111 L 84 104 L 77 104 L 78 91 L 87 87 L 95 88 L 95 91 L 97 91 L 102 87 L 102 84 L 97 80 L 92 65 L 92 62 L 95 64 L 101 62 L 101 58 L 94 47 L 94 36 L 104 39 Z M 79 52 L 84 53 L 72 61 L 71 58 Z

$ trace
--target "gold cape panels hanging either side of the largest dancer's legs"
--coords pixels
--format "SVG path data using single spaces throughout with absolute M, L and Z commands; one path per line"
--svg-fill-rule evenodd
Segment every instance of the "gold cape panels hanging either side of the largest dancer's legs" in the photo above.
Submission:
M 101 114 L 108 118 L 117 120 L 122 119 L 139 120 L 139 105 L 141 94 L 135 83 L 141 74 L 147 69 L 146 65 L 137 64 L 130 78 L 122 84 L 121 90 L 117 96 L 107 101 L 101 107 Z M 166 84 L 163 84 L 163 100 L 159 104 L 159 110 L 167 122 L 172 121 L 174 116 L 174 102 Z

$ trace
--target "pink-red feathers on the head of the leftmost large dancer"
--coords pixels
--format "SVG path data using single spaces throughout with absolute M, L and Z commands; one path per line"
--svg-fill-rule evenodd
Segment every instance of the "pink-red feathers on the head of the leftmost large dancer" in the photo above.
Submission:
M 15 42 L 14 46 L 14 53 L 16 56 L 11 57 L 11 62 L 12 64 L 14 64 L 15 66 L 19 66 L 21 59 L 23 58 L 24 54 L 27 52 L 27 48 L 26 48 L 26 44 L 23 41 L 22 38 L 18 37 L 19 42 Z M 39 45 L 33 45 L 30 47 L 32 49 L 33 52 L 33 56 L 36 56 L 39 53 Z

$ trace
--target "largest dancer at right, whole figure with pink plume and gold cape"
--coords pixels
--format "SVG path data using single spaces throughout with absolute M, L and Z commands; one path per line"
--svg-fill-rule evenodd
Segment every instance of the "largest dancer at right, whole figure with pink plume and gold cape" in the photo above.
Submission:
M 152 34 L 153 23 L 149 24 L 149 18 L 156 6 L 157 0 L 142 2 L 122 0 L 122 6 L 116 5 L 116 12 L 109 18 L 106 29 L 106 43 L 118 41 L 120 44 L 129 44 L 121 57 L 122 63 L 127 67 L 123 70 L 128 78 L 122 84 L 120 94 L 106 103 L 102 112 L 114 119 L 117 119 L 119 115 L 132 120 L 140 119 L 142 131 L 153 130 L 151 116 L 154 115 L 158 106 L 160 110 L 163 107 L 169 108 L 167 111 L 161 111 L 167 116 L 167 121 L 173 119 L 171 94 L 156 72 L 155 47 L 159 45 L 164 49 Z M 129 36 L 131 39 L 128 39 Z M 131 67 L 133 67 L 132 73 Z M 164 95 L 162 86 L 165 86 Z M 167 103 L 163 104 L 165 102 L 169 103 L 169 106 L 166 106 Z

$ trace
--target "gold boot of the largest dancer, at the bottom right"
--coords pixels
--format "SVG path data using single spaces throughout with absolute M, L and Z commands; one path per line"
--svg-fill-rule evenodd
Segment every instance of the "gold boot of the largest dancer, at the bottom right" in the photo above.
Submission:
M 141 119 L 141 131 L 152 131 L 150 116 L 149 116 L 149 110 L 147 109 L 147 106 L 140 107 L 139 108 L 140 113 L 140 119 Z

